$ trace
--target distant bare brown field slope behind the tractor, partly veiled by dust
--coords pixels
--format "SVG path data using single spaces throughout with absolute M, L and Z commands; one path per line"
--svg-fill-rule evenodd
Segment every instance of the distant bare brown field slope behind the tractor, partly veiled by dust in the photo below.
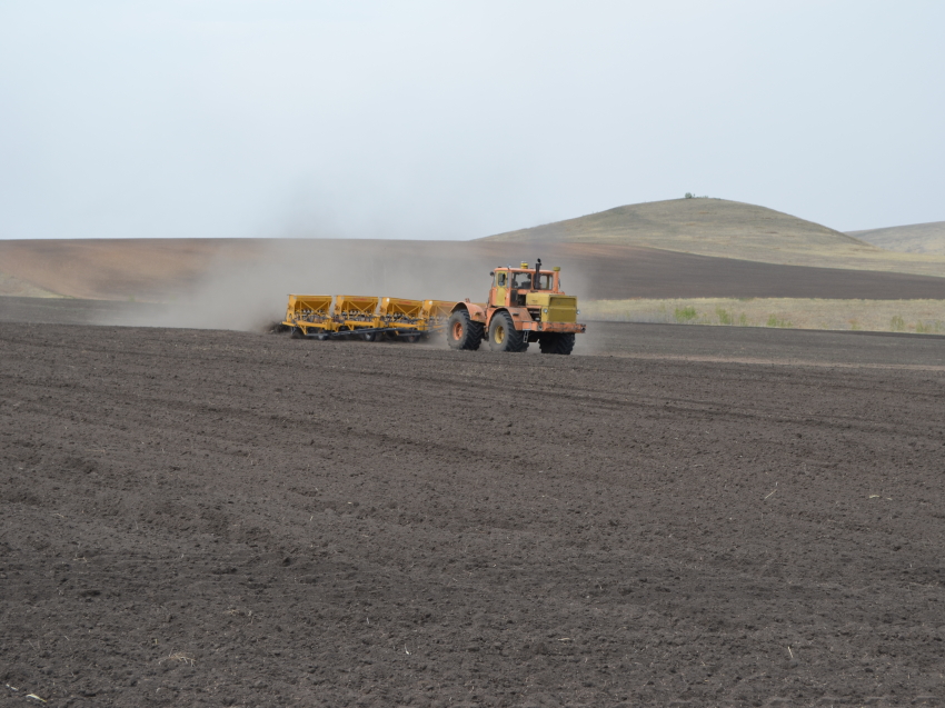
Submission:
M 692 200 L 689 200 L 692 201 Z M 777 266 L 601 243 L 331 240 L 0 241 L 0 271 L 74 298 L 279 311 L 287 292 L 481 299 L 498 265 L 564 269 L 580 298 L 945 299 L 945 278 Z M 28 295 L 28 293 L 24 293 Z M 219 327 L 219 318 L 212 320 Z

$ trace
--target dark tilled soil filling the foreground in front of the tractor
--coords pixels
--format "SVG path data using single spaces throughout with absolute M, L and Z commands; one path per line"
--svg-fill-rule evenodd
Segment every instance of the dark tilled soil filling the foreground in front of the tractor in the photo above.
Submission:
M 942 705 L 943 342 L 2 322 L 0 701 Z

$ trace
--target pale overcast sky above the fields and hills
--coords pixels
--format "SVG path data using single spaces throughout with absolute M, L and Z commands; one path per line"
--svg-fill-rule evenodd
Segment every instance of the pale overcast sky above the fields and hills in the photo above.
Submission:
M 0 2 L 0 238 L 945 220 L 938 0 Z

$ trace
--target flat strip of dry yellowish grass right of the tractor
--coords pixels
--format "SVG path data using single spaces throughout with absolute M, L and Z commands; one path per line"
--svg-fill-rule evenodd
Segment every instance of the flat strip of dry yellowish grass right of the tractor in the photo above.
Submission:
M 945 335 L 945 300 L 694 298 L 589 300 L 583 319 Z

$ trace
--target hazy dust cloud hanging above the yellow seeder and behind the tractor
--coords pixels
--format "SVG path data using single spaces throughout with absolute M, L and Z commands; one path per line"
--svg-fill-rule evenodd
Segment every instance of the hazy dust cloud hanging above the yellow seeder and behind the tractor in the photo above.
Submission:
M 162 252 L 160 269 L 139 262 L 136 272 L 147 288 L 129 287 L 147 291 L 149 302 L 115 302 L 101 310 L 96 323 L 262 331 L 284 318 L 290 293 L 483 302 L 494 268 L 521 261 L 534 266 L 536 258 L 546 268 L 563 266 L 565 290 L 586 297 L 581 283 L 593 282 L 584 277 L 589 263 L 569 257 L 567 248 L 487 241 L 232 239 L 202 249 L 199 259 L 185 249 L 177 256 Z M 147 260 L 147 253 L 136 258 Z

